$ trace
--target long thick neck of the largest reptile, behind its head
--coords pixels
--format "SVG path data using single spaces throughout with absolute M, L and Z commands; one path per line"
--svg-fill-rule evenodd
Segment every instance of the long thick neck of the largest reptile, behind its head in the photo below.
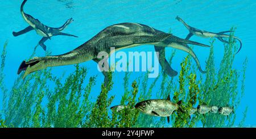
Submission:
M 46 60 L 46 66 L 52 67 L 79 64 L 81 62 L 92 60 L 96 57 L 97 55 L 94 53 L 92 45 L 85 43 L 71 52 L 58 56 L 47 56 L 44 58 Z

